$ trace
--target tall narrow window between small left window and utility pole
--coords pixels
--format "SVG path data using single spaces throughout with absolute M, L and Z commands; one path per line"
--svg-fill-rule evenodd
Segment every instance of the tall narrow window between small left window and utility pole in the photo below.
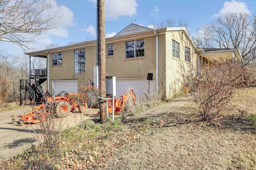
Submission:
M 85 72 L 85 49 L 74 50 L 75 73 Z

